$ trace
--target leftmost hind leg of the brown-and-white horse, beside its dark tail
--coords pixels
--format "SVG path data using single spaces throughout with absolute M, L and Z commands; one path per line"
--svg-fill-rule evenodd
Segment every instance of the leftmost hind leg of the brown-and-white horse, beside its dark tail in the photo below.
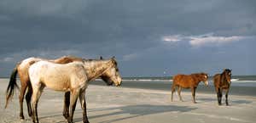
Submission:
M 24 95 L 26 92 L 26 87 L 27 87 L 27 81 L 21 81 L 22 79 L 20 79 L 20 85 L 21 85 L 21 89 L 20 89 L 20 120 L 24 120 L 24 115 L 23 115 L 23 99 L 24 99 Z

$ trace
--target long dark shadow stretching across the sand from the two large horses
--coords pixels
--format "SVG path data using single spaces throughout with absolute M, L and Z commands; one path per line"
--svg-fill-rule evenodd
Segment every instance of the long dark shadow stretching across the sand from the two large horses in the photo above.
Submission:
M 191 110 L 195 110 L 197 108 L 190 108 L 188 106 L 174 106 L 174 105 L 151 105 L 151 104 L 140 104 L 140 105 L 128 105 L 123 107 L 114 107 L 114 108 L 103 108 L 103 109 L 88 109 L 88 112 L 95 111 L 111 111 L 111 113 L 103 114 L 103 115 L 89 115 L 90 119 L 105 117 L 105 116 L 113 116 L 113 115 L 125 115 L 129 114 L 131 116 L 125 116 L 123 118 L 117 118 L 113 120 L 105 120 L 101 123 L 111 123 L 119 120 L 127 120 L 131 118 L 135 118 L 143 115 L 155 115 L 165 112 L 189 112 Z M 82 121 L 82 118 L 74 119 L 74 121 Z

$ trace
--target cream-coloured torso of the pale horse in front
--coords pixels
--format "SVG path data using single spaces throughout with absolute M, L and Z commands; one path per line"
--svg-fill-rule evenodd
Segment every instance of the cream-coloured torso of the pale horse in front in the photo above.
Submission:
M 85 81 L 86 74 L 81 62 L 69 64 L 55 64 L 48 61 L 39 61 L 29 69 L 32 84 L 44 83 L 46 87 L 65 91 L 73 83 L 71 81 Z

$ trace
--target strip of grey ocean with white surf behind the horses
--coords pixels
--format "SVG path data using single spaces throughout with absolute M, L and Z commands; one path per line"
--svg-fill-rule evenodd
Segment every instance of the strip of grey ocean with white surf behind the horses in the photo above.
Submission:
M 90 82 L 94 85 L 105 85 L 99 79 Z M 123 77 L 121 87 L 142 88 L 170 91 L 172 87 L 172 77 Z M 190 92 L 190 89 L 183 89 L 183 92 Z M 209 86 L 205 87 L 201 82 L 196 92 L 216 93 L 213 86 L 212 77 L 209 78 Z M 236 75 L 232 76 L 230 95 L 256 96 L 256 75 Z

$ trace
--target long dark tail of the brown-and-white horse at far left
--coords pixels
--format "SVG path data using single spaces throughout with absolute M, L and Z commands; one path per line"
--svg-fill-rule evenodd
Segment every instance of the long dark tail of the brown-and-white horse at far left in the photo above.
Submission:
M 12 98 L 14 95 L 15 87 L 19 88 L 19 86 L 16 83 L 16 75 L 18 73 L 17 67 L 19 65 L 20 65 L 20 63 L 16 64 L 16 66 L 15 66 L 14 70 L 12 71 L 12 74 L 10 75 L 10 78 L 9 78 L 9 85 L 6 90 L 6 103 L 5 103 L 5 107 L 4 107 L 5 109 L 7 108 L 9 99 Z

